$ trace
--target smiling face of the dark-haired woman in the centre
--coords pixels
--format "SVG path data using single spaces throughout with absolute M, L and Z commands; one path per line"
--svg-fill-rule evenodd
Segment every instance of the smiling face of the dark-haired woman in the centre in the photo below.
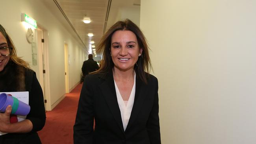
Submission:
M 142 49 L 132 31 L 118 30 L 111 37 L 111 57 L 114 70 L 133 70 Z

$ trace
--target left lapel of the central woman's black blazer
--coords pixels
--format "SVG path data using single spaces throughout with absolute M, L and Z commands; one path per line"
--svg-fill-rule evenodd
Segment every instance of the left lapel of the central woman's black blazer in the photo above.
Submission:
M 119 105 L 117 102 L 117 94 L 115 91 L 115 83 L 113 78 L 113 73 L 108 74 L 105 77 L 105 80 L 101 83 L 100 89 L 102 90 L 102 94 L 106 102 L 108 103 L 108 107 L 113 114 L 119 128 L 124 133 L 124 127 L 122 125 L 121 112 L 119 109 Z

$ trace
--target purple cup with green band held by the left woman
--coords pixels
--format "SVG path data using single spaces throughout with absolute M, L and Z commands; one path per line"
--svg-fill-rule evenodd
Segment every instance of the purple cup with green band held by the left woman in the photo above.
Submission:
M 8 96 L 6 93 L 0 94 L 0 112 L 4 113 L 6 111 L 6 107 L 11 105 L 13 107 L 13 96 Z M 30 112 L 30 106 L 19 100 L 17 111 L 13 114 L 26 116 Z M 12 111 L 13 112 L 13 111 Z

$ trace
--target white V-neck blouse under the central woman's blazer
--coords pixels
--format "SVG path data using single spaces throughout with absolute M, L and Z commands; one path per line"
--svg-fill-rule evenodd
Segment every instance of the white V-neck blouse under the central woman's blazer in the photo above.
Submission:
M 132 87 L 132 92 L 130 94 L 129 100 L 126 102 L 122 99 L 122 96 L 119 92 L 119 89 L 117 87 L 117 84 L 115 83 L 115 91 L 117 93 L 117 102 L 119 105 L 119 109 L 121 112 L 121 117 L 122 117 L 122 125 L 124 126 L 124 131 L 128 125 L 131 113 L 132 113 L 132 107 L 134 106 L 134 97 L 135 97 L 135 83 L 136 81 L 136 74 L 134 72 L 134 86 Z M 115 82 L 115 79 L 114 79 Z

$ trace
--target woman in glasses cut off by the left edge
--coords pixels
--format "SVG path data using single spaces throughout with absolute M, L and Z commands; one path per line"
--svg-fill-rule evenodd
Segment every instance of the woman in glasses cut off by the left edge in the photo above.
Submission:
M 28 63 L 16 55 L 15 46 L 0 25 L 0 92 L 29 92 L 30 113 L 19 121 L 10 116 L 11 105 L 0 113 L 0 144 L 41 144 L 37 131 L 45 125 L 43 91 Z

